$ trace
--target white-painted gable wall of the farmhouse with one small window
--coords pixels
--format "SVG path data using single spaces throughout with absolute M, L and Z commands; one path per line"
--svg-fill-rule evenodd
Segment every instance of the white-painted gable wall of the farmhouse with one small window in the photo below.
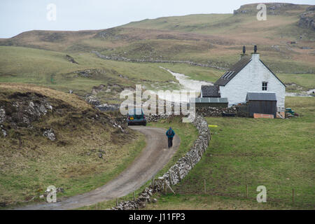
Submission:
M 267 82 L 267 91 L 262 91 Z M 228 97 L 229 106 L 246 102 L 247 92 L 275 92 L 276 106 L 284 107 L 286 87 L 260 62 L 259 54 L 252 54 L 251 62 L 225 86 L 220 86 L 221 97 Z

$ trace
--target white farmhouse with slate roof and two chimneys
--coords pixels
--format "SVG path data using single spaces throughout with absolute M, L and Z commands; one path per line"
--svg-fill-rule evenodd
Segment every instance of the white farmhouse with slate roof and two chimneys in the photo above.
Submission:
M 255 46 L 251 57 L 243 54 L 241 59 L 226 71 L 214 85 L 219 87 L 221 97 L 228 98 L 228 105 L 246 102 L 248 92 L 274 92 L 276 106 L 284 108 L 286 85 L 262 62 Z

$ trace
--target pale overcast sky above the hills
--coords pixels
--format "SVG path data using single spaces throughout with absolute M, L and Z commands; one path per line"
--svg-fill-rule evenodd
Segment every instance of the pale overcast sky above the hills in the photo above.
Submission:
M 314 0 L 277 0 L 314 4 Z M 56 6 L 53 20 L 50 3 Z M 0 38 L 23 31 L 106 29 L 128 22 L 172 15 L 232 13 L 251 0 L 0 0 Z M 48 20 L 47 18 L 50 18 Z

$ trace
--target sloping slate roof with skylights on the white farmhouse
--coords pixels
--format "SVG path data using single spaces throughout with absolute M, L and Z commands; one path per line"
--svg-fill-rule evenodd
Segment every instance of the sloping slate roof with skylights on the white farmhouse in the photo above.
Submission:
M 249 62 L 251 62 L 251 57 L 248 56 L 241 57 L 241 59 L 236 64 L 234 64 L 228 71 L 226 71 L 223 74 L 223 76 L 221 76 L 221 78 L 216 80 L 216 83 L 214 83 L 214 85 L 226 85 Z

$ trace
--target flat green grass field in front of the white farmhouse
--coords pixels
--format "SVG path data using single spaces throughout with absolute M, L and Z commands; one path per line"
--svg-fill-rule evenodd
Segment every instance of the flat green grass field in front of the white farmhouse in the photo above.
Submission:
M 176 196 L 146 209 L 314 209 L 314 105 L 313 97 L 286 97 L 300 114 L 288 120 L 207 118 L 218 128 L 202 160 L 174 186 Z M 258 186 L 267 188 L 265 204 L 255 202 Z

